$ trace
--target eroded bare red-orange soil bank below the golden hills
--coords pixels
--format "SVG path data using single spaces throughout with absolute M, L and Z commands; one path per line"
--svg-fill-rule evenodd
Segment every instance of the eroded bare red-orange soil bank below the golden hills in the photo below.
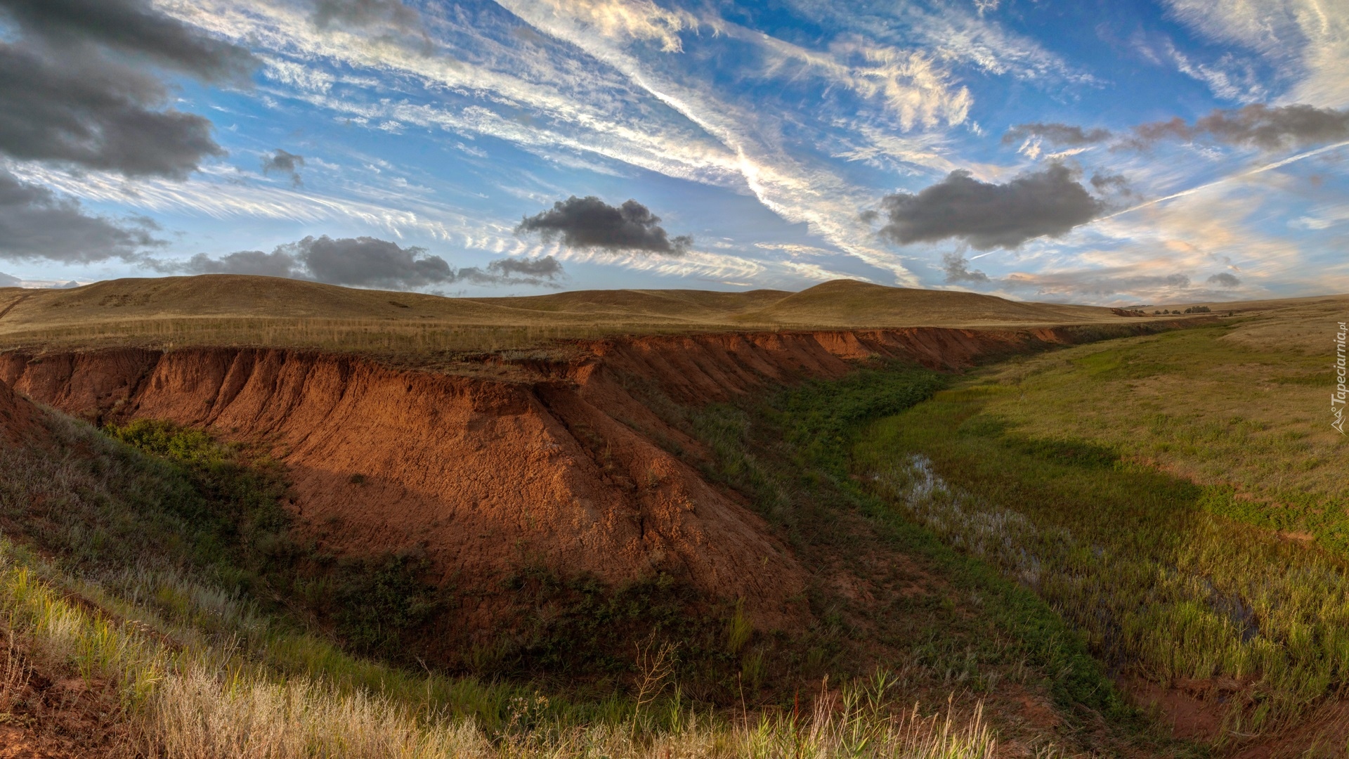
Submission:
M 643 398 L 724 400 L 867 357 L 956 369 L 1159 327 L 638 336 L 511 361 L 526 380 L 509 382 L 293 350 L 116 348 L 5 354 L 0 381 L 96 421 L 167 419 L 270 446 L 293 511 L 341 554 L 418 547 L 461 590 L 526 565 L 606 581 L 669 571 L 743 598 L 761 627 L 795 628 L 805 570 L 737 496 L 654 442 L 699 450 Z M 0 417 L 24 407 L 0 385 Z

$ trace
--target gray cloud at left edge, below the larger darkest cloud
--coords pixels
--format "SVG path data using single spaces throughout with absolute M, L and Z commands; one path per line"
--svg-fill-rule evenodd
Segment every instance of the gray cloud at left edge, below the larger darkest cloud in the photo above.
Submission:
M 148 219 L 89 215 L 80 201 L 0 170 L 0 258 L 67 263 L 132 259 L 163 244 L 154 236 L 156 228 Z

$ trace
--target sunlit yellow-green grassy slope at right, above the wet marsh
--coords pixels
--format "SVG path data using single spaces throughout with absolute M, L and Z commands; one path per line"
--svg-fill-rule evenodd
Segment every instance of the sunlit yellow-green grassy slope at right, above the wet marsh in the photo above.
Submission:
M 1311 533 L 1349 556 L 1349 481 L 1338 466 L 1349 439 L 1330 428 L 1327 354 L 1253 342 L 1246 327 L 1110 340 L 990 367 L 982 375 L 1001 390 L 987 411 L 1027 438 L 1091 442 L 1226 486 L 1240 497 L 1225 513 Z

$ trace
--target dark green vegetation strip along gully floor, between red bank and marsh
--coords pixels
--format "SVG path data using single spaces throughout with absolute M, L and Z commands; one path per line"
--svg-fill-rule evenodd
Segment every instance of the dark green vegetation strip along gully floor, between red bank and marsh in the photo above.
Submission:
M 746 493 L 807 563 L 846 558 L 865 565 L 901 555 L 940 578 L 932 594 L 878 598 L 870 609 L 813 589 L 809 601 L 820 620 L 813 632 L 820 643 L 832 643 L 830 662 L 839 671 L 849 662 L 871 663 L 858 650 L 881 646 L 888 651 L 882 667 L 915 667 L 928 686 L 960 682 L 993 693 L 1002 678 L 1020 677 L 1048 691 L 1070 721 L 1086 710 L 1126 736 L 1120 740 L 1186 754 L 1190 748 L 1155 737 L 1147 718 L 1125 704 L 1108 667 L 1093 656 L 1087 635 L 1066 621 L 1052 600 L 946 542 L 855 477 L 853 447 L 877 419 L 923 408 L 934 394 L 983 398 L 1005 392 L 943 389 L 950 384 L 948 375 L 925 369 L 877 366 L 839 381 L 805 382 L 759 402 L 704 407 L 688 423 L 714 454 L 706 474 Z M 1085 443 L 1023 440 L 1020 447 L 1023 455 L 1097 473 L 1117 458 Z

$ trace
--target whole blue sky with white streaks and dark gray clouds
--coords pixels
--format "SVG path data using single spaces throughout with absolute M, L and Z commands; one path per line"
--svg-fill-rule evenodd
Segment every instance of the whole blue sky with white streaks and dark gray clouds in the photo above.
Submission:
M 0 0 L 0 286 L 1349 292 L 1342 0 Z

